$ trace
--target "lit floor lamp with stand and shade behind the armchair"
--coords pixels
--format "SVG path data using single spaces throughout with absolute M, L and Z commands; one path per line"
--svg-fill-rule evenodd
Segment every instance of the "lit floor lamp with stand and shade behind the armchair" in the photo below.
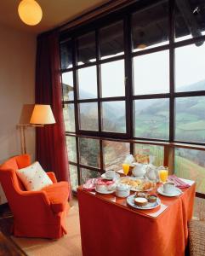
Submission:
M 21 112 L 20 124 L 20 144 L 21 153 L 26 154 L 26 128 L 27 127 L 43 127 L 44 125 L 55 124 L 54 114 L 50 105 L 24 105 Z

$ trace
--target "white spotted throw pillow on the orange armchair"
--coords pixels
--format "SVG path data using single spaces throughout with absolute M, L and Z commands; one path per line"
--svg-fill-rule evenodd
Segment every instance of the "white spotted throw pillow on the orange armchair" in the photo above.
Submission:
M 53 184 L 39 162 L 34 162 L 31 166 L 16 170 L 16 173 L 27 191 L 41 190 Z

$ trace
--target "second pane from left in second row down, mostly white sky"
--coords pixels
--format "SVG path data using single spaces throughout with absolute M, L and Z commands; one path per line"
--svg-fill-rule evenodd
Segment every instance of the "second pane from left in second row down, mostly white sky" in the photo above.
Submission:
M 78 88 L 80 99 L 97 97 L 96 66 L 84 67 L 78 70 Z

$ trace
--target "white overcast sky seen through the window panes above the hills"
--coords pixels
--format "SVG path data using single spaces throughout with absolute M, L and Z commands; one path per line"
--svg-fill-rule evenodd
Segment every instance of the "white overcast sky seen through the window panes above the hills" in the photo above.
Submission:
M 185 39 L 185 38 L 181 38 Z M 164 43 L 163 43 L 164 44 Z M 157 44 L 158 46 L 159 44 Z M 153 45 L 152 45 L 153 47 Z M 205 79 L 205 43 L 197 47 L 191 44 L 175 49 L 175 88 L 195 84 Z M 134 64 L 134 94 L 167 93 L 169 90 L 169 53 L 162 50 L 157 53 L 136 56 Z M 72 73 L 63 73 L 64 84 L 73 86 Z M 102 96 L 124 96 L 124 61 L 112 61 L 101 65 Z M 80 98 L 97 96 L 96 67 L 79 69 L 78 83 Z M 83 91 L 82 91 L 83 90 Z M 204 88 L 205 90 L 205 88 Z M 88 97 L 88 96 L 87 96 Z

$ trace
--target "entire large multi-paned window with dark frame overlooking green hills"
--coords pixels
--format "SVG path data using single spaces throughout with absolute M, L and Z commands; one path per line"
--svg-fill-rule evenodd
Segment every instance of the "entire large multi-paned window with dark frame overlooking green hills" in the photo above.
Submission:
M 154 155 L 157 166 L 168 164 L 170 147 L 174 172 L 204 177 L 204 15 L 199 0 L 138 1 L 62 32 L 72 189 L 107 168 L 121 169 L 139 150 Z M 204 184 L 197 185 L 203 194 Z

